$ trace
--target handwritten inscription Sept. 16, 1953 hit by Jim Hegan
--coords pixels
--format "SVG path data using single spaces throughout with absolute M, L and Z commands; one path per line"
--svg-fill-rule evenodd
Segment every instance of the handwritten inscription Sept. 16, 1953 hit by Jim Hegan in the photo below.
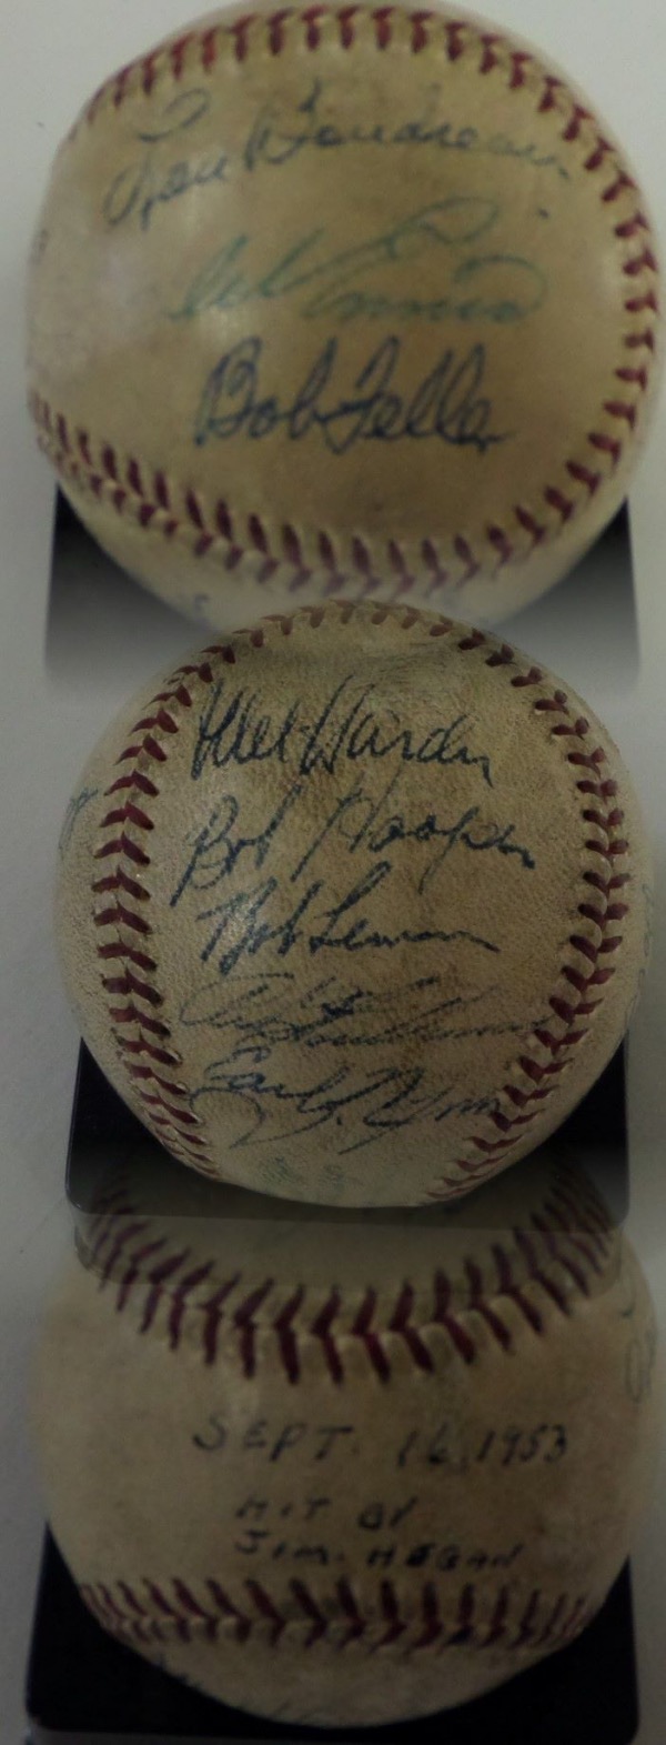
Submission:
M 232 1543 L 242 1562 L 272 1562 L 331 1569 L 345 1562 L 349 1537 L 366 1569 L 422 1569 L 438 1576 L 509 1570 L 525 1544 L 464 1543 L 455 1537 L 455 1488 L 450 1482 L 485 1473 L 497 1485 L 509 1469 L 507 1487 L 523 1483 L 530 1468 L 553 1468 L 567 1459 L 563 1424 L 497 1424 L 462 1434 L 453 1420 L 431 1431 L 411 1429 L 392 1450 L 384 1450 L 385 1478 L 404 1475 L 394 1494 L 366 1490 L 357 1469 L 361 1433 L 354 1422 L 310 1424 L 305 1419 L 255 1419 L 235 1431 L 211 1413 L 194 1438 L 204 1455 L 228 1455 L 248 1471 L 248 1488 L 230 1522 Z M 347 1483 L 340 1487 L 340 1468 Z M 279 1476 L 275 1473 L 279 1469 Z M 270 1483 L 275 1475 L 277 1483 Z M 432 1490 L 436 1487 L 436 1490 Z M 277 1497 L 275 1497 L 277 1488 Z M 432 1499 L 438 1497 L 436 1508 Z M 340 1506 L 345 1522 L 340 1522 Z M 432 1525 L 439 1529 L 432 1536 Z M 453 1532 L 452 1532 L 453 1529 Z

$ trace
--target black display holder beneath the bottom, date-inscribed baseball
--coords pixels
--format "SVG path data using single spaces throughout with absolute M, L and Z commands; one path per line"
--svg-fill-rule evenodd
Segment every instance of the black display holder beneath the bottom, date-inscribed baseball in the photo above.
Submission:
M 209 1701 L 96 1623 L 47 1537 L 28 1670 L 30 1745 L 629 1745 L 638 1703 L 631 1584 L 568 1647 L 464 1708 L 385 1728 L 289 1728 Z

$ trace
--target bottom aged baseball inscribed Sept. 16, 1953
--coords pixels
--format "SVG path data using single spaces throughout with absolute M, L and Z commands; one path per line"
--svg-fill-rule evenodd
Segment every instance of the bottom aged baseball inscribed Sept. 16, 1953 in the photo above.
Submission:
M 317 1726 L 429 1714 L 570 1642 L 661 1417 L 647 1286 L 584 1171 L 553 1152 L 429 1216 L 185 1181 L 173 1218 L 110 1188 L 42 1337 L 49 1516 L 101 1625 Z

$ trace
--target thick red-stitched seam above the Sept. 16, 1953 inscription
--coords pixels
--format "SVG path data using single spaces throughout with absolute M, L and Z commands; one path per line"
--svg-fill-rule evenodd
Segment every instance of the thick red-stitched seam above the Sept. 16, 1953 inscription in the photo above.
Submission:
M 345 1380 L 345 1354 L 354 1347 L 387 1384 L 398 1352 L 401 1361 L 406 1356 L 417 1370 L 434 1373 L 432 1338 L 445 1337 L 453 1359 L 472 1365 L 488 1340 L 502 1354 L 514 1351 L 516 1314 L 521 1326 L 544 1335 L 546 1314 L 554 1309 L 568 1317 L 574 1302 L 588 1298 L 595 1279 L 603 1277 L 612 1239 L 596 1195 L 586 1194 L 582 1183 L 556 1178 L 528 1228 L 513 1228 L 514 1258 L 506 1241 L 490 1244 L 492 1277 L 469 1255 L 455 1283 L 443 1267 L 427 1284 L 418 1281 L 418 1300 L 410 1281 L 401 1281 L 391 1300 L 371 1284 L 345 1297 L 338 1286 L 316 1291 L 298 1281 L 248 1277 L 248 1269 L 221 1277 L 213 1258 L 194 1256 L 187 1237 L 185 1246 L 176 1246 L 119 1187 L 91 1223 L 85 1265 L 98 1274 L 99 1290 L 113 1291 L 115 1312 L 131 1310 L 139 1335 L 160 1326 L 171 1352 L 188 1340 L 207 1368 L 225 1340 L 227 1358 L 235 1352 L 241 1373 L 251 1380 L 268 1335 L 270 1363 L 282 1368 L 289 1386 L 303 1377 L 305 1345 L 336 1386 Z

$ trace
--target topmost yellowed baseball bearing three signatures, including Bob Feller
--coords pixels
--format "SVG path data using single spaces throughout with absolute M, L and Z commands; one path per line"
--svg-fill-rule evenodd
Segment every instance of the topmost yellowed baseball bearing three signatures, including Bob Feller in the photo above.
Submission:
M 235 7 L 63 141 L 30 403 L 99 543 L 220 628 L 500 619 L 626 494 L 657 291 L 621 147 L 530 45 L 445 5 Z

